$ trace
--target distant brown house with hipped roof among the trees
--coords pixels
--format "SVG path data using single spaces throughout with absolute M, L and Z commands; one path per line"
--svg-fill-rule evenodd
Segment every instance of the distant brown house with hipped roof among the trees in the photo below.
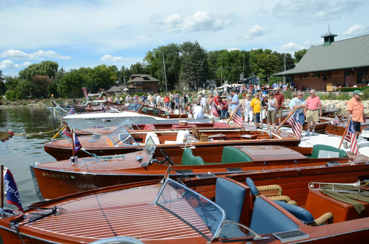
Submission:
M 158 83 L 158 79 L 147 74 L 132 74 L 127 81 L 128 93 L 156 93 L 159 91 Z

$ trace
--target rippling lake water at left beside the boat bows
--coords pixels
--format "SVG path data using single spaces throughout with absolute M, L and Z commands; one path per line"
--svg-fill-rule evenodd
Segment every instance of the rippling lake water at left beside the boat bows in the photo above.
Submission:
M 55 121 L 56 128 L 60 121 Z M 59 123 L 59 124 L 58 124 Z M 51 112 L 46 107 L 14 107 L 0 109 L 0 130 L 12 130 L 15 134 L 46 132 L 54 129 Z M 38 202 L 33 185 L 30 167 L 31 163 L 55 161 L 55 158 L 44 151 L 44 143 L 48 142 L 54 133 L 27 136 L 14 136 L 6 142 L 0 142 L 0 164 L 7 167 L 15 181 L 21 197 L 23 207 Z M 8 208 L 15 209 L 14 205 L 6 203 Z

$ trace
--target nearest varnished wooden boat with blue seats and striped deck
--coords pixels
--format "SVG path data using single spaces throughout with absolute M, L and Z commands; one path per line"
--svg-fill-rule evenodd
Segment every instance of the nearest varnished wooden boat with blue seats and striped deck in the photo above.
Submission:
M 34 203 L 24 212 L 10 210 L 0 219 L 0 234 L 4 244 L 365 243 L 368 203 L 360 202 L 364 209 L 358 214 L 352 205 L 309 190 L 308 184 L 351 183 L 368 175 L 365 163 L 209 175 L 178 182 L 166 173 L 161 181 L 63 196 Z M 296 199 L 298 206 L 291 208 L 265 194 L 253 201 L 250 193 L 255 194 L 255 187 L 249 179 L 252 188 L 246 185 L 247 177 L 256 186 L 280 184 L 283 194 Z M 296 215 L 294 209 L 302 214 Z M 330 218 L 322 222 L 325 225 L 314 226 L 322 212 L 331 212 L 333 223 Z M 312 222 L 306 223 L 307 218 Z

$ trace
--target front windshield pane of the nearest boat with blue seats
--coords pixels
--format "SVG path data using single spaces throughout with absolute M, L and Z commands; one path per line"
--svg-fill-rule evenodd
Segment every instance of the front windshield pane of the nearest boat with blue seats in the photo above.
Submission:
M 166 178 L 154 204 L 211 241 L 225 219 L 224 210 L 188 187 Z

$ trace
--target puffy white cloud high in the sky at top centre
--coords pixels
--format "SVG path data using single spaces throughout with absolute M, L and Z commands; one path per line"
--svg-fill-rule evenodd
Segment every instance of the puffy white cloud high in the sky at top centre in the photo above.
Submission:
M 182 19 L 179 14 L 172 14 L 166 18 L 154 15 L 150 18 L 154 23 L 162 25 L 168 31 L 218 31 L 231 24 L 233 17 L 220 16 L 197 11 L 194 15 Z

